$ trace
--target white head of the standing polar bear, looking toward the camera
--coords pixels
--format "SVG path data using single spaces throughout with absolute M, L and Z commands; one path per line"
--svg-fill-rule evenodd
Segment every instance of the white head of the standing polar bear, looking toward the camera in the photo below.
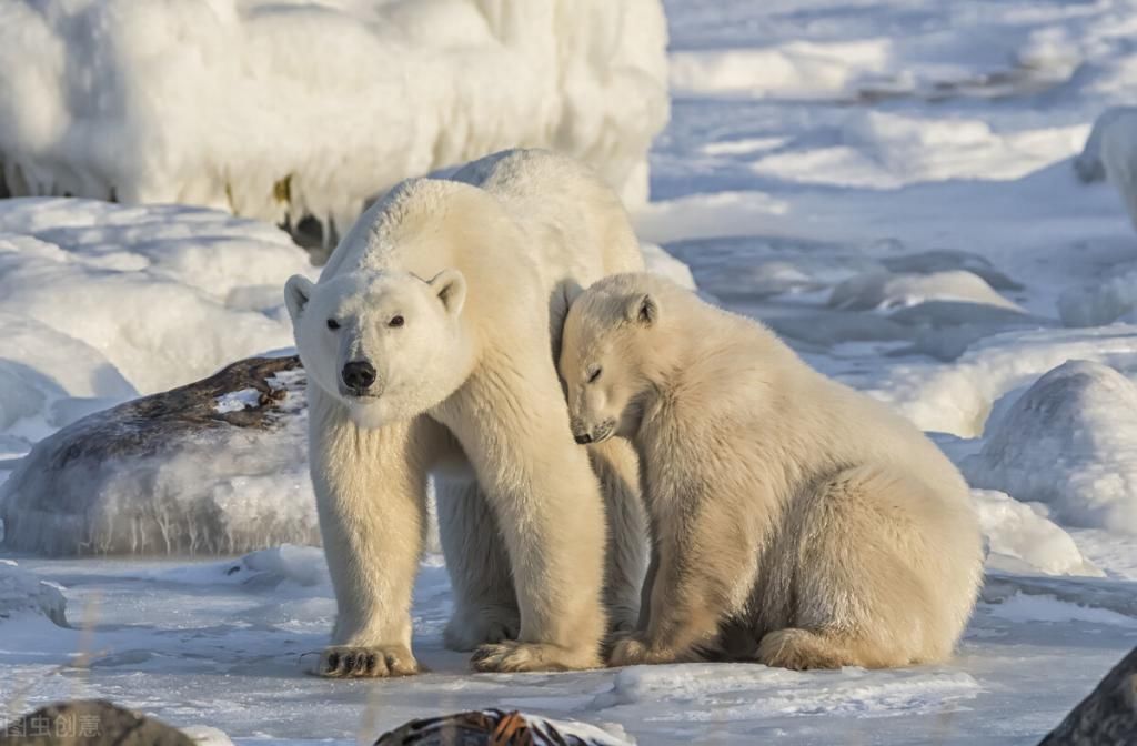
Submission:
M 422 414 L 468 372 L 457 270 L 432 280 L 360 271 L 319 284 L 294 275 L 284 297 L 309 382 L 362 428 Z

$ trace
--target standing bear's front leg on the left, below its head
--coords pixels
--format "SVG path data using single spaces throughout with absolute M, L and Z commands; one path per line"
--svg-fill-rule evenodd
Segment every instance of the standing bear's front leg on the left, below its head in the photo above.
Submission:
M 426 525 L 428 423 L 364 430 L 316 387 L 308 390 L 309 461 L 337 603 L 332 646 L 315 672 L 415 673 L 410 595 Z

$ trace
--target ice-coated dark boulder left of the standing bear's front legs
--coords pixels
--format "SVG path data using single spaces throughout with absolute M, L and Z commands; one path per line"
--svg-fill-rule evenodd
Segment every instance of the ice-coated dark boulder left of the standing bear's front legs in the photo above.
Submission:
M 318 544 L 299 358 L 249 358 L 89 415 L 3 486 L 8 549 L 235 554 Z

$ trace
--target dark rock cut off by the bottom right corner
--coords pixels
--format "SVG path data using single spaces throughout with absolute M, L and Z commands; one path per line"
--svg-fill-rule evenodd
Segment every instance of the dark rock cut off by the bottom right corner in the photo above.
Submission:
M 1038 746 L 1137 744 L 1137 648 L 1105 674 Z

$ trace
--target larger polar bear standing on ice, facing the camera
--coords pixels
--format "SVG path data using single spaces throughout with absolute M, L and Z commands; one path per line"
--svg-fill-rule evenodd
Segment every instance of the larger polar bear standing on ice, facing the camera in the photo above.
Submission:
M 429 473 L 456 600 L 446 639 L 483 645 L 476 668 L 596 666 L 604 606 L 634 624 L 634 453 L 573 442 L 555 357 L 570 295 L 641 267 L 611 189 L 567 158 L 513 150 L 402 182 L 318 283 L 289 280 L 338 604 L 321 673 L 417 671 L 409 612 Z

